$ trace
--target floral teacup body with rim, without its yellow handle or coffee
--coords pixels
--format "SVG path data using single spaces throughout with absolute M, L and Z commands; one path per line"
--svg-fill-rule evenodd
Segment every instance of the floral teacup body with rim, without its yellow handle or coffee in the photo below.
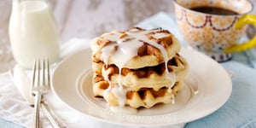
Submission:
M 224 57 L 230 59 L 230 55 L 224 56 L 224 50 L 237 44 L 246 31 L 246 27 L 234 27 L 242 15 L 210 15 L 191 9 L 216 7 L 238 14 L 247 14 L 253 9 L 246 0 L 174 0 L 174 3 L 177 26 L 186 42 L 207 55 L 220 55 L 220 61 L 226 61 Z

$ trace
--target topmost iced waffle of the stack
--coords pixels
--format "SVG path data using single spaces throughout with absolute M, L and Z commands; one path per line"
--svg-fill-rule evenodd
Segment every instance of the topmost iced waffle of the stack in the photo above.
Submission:
M 117 60 L 129 57 L 129 59 L 126 59 L 128 61 L 123 61 L 125 62 L 123 67 L 127 68 L 156 66 L 161 62 L 172 59 L 180 50 L 177 38 L 167 30 L 145 31 L 138 27 L 133 27 L 125 32 L 105 33 L 101 37 L 94 38 L 90 46 L 93 51 L 93 61 L 116 64 Z M 109 51 L 106 52 L 106 50 Z M 129 55 L 111 55 L 112 53 L 126 53 Z

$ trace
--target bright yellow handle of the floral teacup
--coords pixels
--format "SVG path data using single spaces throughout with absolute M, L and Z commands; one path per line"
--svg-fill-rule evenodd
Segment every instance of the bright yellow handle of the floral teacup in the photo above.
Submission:
M 239 29 L 242 26 L 247 24 L 253 24 L 256 26 L 256 15 L 243 15 L 239 20 L 237 20 L 235 24 L 235 29 Z M 232 53 L 232 52 L 239 52 L 242 50 L 252 49 L 256 46 L 256 36 L 254 36 L 251 40 L 242 43 L 242 44 L 235 44 L 231 46 L 229 49 L 225 49 L 225 53 Z

